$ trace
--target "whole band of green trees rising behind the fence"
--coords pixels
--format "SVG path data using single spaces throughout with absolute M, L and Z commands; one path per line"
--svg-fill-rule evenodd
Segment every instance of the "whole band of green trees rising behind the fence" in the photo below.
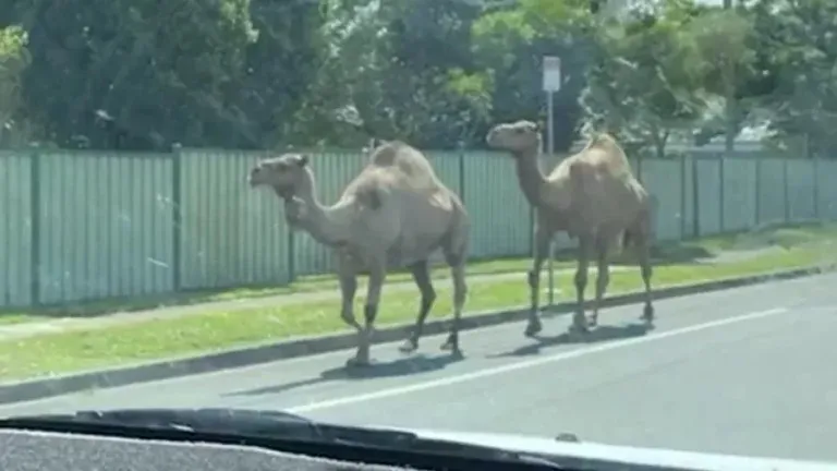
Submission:
M 737 125 L 769 119 L 780 147 L 803 136 L 837 150 L 837 3 L 590 10 L 589 0 L 10 0 L 0 109 L 65 147 L 369 137 L 473 147 L 496 121 L 546 120 L 541 62 L 559 56 L 559 152 L 586 126 L 663 155 L 671 137 L 724 132 L 730 92 Z

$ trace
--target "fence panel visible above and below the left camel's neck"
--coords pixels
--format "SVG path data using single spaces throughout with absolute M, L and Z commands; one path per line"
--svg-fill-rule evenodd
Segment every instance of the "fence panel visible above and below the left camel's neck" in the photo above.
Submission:
M 332 205 L 345 186 L 366 165 L 368 156 L 360 152 L 326 152 L 311 154 L 311 169 L 317 181 L 317 197 Z M 304 231 L 293 233 L 295 275 L 318 275 L 333 269 L 332 251 Z

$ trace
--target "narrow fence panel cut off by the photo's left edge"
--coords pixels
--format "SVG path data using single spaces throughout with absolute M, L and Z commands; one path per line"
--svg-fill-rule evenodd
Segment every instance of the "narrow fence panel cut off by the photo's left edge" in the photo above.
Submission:
M 32 156 L 0 152 L 0 305 L 32 304 Z

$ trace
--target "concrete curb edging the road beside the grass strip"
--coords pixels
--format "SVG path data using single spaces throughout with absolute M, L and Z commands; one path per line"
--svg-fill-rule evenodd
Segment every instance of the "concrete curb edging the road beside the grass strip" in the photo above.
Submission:
M 837 264 L 774 271 L 748 277 L 726 278 L 691 285 L 671 286 L 655 289 L 654 299 L 662 300 L 698 294 L 702 292 L 756 285 L 765 281 L 800 278 L 834 270 L 837 270 Z M 643 298 L 642 292 L 630 292 L 608 297 L 604 300 L 603 304 L 605 307 L 633 304 L 642 302 Z M 567 314 L 572 312 L 573 307 L 574 303 L 558 303 L 554 305 L 550 311 L 544 312 L 543 316 L 551 317 Z M 462 319 L 462 330 L 523 321 L 526 318 L 526 311 L 527 309 L 525 306 L 518 306 L 506 311 L 466 313 Z M 428 322 L 425 327 L 425 336 L 445 333 L 448 330 L 449 325 L 449 319 Z M 378 345 L 401 340 L 409 334 L 411 327 L 412 324 L 383 327 L 375 333 L 373 343 Z M 464 341 L 465 343 L 468 342 L 468 340 Z M 326 353 L 353 348 L 354 342 L 355 335 L 353 333 L 342 331 L 319 337 L 293 338 L 281 342 L 256 345 L 234 350 L 206 353 L 197 357 L 178 358 L 163 362 L 144 363 L 111 370 L 90 371 L 64 376 L 0 384 L 0 403 L 23 402 L 88 389 L 126 386 L 136 383 L 168 379 L 179 376 L 250 366 L 296 357 Z

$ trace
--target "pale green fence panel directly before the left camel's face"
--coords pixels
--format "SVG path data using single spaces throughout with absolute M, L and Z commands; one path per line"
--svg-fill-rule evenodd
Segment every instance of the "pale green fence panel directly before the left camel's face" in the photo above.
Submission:
M 181 285 L 184 289 L 290 280 L 281 201 L 253 190 L 260 153 L 182 149 Z

